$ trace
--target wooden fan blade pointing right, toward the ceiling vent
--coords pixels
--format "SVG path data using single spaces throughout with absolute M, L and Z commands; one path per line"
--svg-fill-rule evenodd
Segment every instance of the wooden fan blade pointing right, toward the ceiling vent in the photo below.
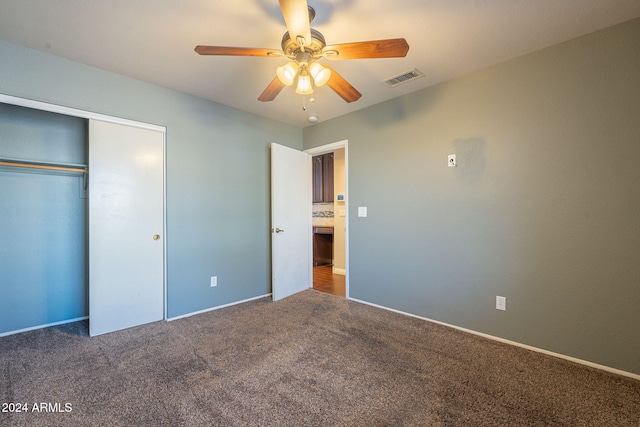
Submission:
M 400 58 L 408 51 L 409 44 L 402 38 L 334 44 L 323 49 L 327 59 Z

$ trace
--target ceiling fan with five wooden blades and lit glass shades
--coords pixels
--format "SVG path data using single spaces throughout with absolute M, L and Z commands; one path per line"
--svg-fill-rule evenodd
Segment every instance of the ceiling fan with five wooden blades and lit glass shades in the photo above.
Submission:
M 296 83 L 296 93 L 313 94 L 313 87 L 327 84 L 346 102 L 360 99 L 362 94 L 331 67 L 318 60 L 327 58 L 399 58 L 407 55 L 409 45 L 403 38 L 334 44 L 327 46 L 324 36 L 311 28 L 315 10 L 307 0 L 279 0 L 287 32 L 282 37 L 282 50 L 198 45 L 200 55 L 286 57 L 290 61 L 276 70 L 276 77 L 258 97 L 259 101 L 273 101 L 285 86 Z M 297 78 L 297 79 L 296 79 Z

